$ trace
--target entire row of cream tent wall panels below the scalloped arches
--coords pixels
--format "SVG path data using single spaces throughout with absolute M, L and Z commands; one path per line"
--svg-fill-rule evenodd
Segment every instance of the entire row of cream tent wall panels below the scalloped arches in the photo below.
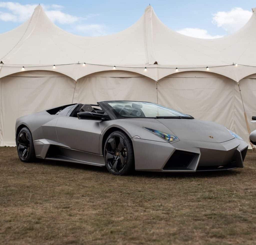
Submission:
M 256 115 L 256 75 L 240 81 L 249 117 Z M 21 72 L 0 79 L 0 146 L 15 146 L 16 118 L 69 103 L 103 100 L 158 102 L 225 125 L 249 143 L 239 88 L 233 80 L 209 72 L 183 72 L 158 81 L 132 72 L 98 72 L 75 81 L 49 71 Z M 157 100 L 158 94 L 158 100 Z M 73 100 L 73 101 L 72 101 Z M 252 124 L 252 123 L 251 123 Z M 254 130 L 254 125 L 250 125 Z

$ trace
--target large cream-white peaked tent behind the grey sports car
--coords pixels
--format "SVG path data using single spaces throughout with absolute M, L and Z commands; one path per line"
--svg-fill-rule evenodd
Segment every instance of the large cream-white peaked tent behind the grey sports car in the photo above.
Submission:
M 37 6 L 28 21 L 0 34 L 0 146 L 15 145 L 19 116 L 111 99 L 158 102 L 249 142 L 244 111 L 256 115 L 255 10 L 238 32 L 209 40 L 170 30 L 151 6 L 131 27 L 102 37 L 63 31 Z

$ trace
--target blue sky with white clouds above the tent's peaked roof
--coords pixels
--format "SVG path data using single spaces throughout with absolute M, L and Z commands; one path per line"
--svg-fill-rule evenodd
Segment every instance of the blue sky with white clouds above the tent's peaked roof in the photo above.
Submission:
M 148 4 L 169 28 L 199 38 L 217 38 L 242 27 L 255 1 L 42 1 L 47 15 L 62 29 L 81 36 L 100 36 L 134 24 Z M 0 33 L 22 24 L 33 13 L 34 1 L 0 1 Z

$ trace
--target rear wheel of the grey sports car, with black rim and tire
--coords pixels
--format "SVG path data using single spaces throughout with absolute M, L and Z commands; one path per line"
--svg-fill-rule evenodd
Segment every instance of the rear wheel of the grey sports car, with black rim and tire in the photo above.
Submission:
M 33 162 L 36 159 L 32 134 L 27 127 L 23 127 L 17 134 L 16 145 L 19 159 L 22 162 Z

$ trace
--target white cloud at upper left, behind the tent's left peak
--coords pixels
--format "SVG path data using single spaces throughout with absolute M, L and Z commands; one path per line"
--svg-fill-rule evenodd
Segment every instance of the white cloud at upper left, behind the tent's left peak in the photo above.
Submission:
M 20 4 L 14 2 L 0 2 L 0 20 L 2 21 L 12 21 L 12 22 L 24 22 L 30 18 L 33 14 L 36 4 Z M 44 5 L 42 7 L 45 10 L 47 16 L 53 21 L 60 24 L 73 24 L 80 20 L 86 20 L 99 14 L 89 14 L 86 17 L 78 17 L 64 13 L 62 9 L 64 8 L 58 4 Z M 3 11 L 3 9 L 5 11 Z

